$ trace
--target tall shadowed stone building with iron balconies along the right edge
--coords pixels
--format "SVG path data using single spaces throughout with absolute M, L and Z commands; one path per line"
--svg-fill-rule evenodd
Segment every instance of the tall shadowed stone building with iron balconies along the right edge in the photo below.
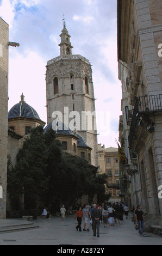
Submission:
M 128 158 L 122 166 L 123 183 L 130 193 L 129 203 L 142 204 L 154 216 L 162 214 L 158 197 L 162 185 L 161 8 L 160 0 L 117 1 L 123 113 L 119 140 Z

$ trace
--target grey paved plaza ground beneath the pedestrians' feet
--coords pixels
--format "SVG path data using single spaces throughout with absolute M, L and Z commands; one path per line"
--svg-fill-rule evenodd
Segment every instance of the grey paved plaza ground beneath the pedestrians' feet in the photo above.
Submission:
M 2 224 L 17 224 L 20 220 L 0 220 Z M 26 222 L 26 221 L 24 221 Z M 11 233 L 0 233 L 0 245 L 161 245 L 162 237 L 146 233 L 140 236 L 134 229 L 131 218 L 124 217 L 124 221 L 114 227 L 104 228 L 100 225 L 100 237 L 93 236 L 91 226 L 90 231 L 79 232 L 76 230 L 77 221 L 74 216 L 66 216 L 65 220 L 61 217 L 50 219 L 38 218 L 32 221 L 39 228 Z M 82 229 L 83 229 L 82 222 Z M 11 240 L 11 241 L 9 241 Z

